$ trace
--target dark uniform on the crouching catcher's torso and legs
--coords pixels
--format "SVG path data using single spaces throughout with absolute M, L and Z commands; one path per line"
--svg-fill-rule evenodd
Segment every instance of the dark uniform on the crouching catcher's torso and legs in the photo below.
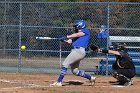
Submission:
M 115 77 L 120 84 L 131 85 L 132 78 L 135 76 L 135 66 L 132 59 L 127 52 L 118 51 L 120 55 L 116 55 L 116 61 L 112 65 L 113 77 Z

